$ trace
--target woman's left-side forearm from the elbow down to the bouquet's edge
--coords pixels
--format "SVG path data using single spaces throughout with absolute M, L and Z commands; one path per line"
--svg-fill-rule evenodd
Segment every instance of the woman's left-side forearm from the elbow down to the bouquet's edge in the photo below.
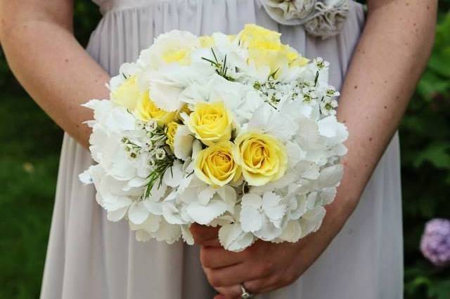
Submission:
M 80 105 L 105 98 L 108 74 L 84 51 L 70 29 L 47 20 L 2 28 L 1 44 L 15 76 L 56 123 L 87 147 L 92 119 Z

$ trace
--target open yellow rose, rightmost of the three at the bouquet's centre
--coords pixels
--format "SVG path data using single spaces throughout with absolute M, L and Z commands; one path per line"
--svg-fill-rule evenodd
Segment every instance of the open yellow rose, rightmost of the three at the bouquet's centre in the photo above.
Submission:
M 271 135 L 247 132 L 234 140 L 233 155 L 248 185 L 262 186 L 281 178 L 288 164 L 284 145 Z

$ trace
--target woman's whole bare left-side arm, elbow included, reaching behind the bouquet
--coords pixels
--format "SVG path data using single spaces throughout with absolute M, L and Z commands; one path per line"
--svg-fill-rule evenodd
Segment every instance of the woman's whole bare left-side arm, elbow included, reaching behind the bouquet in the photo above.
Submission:
M 64 131 L 88 147 L 92 119 L 80 107 L 108 98 L 108 73 L 72 31 L 73 0 L 0 0 L 0 41 L 6 59 L 37 104 Z

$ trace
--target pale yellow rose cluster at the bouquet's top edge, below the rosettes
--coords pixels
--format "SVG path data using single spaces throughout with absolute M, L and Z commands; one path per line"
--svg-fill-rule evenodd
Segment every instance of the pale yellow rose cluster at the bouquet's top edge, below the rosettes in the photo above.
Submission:
M 281 44 L 281 34 L 254 24 L 245 25 L 240 41 L 248 48 L 249 58 L 257 67 L 268 66 L 271 73 L 281 67 L 303 66 L 309 61 L 288 45 Z

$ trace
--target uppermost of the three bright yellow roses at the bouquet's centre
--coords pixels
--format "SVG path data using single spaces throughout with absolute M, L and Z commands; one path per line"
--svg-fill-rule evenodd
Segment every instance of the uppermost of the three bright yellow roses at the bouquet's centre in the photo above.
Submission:
M 205 145 L 230 140 L 233 117 L 224 102 L 200 102 L 188 119 L 188 128 Z

